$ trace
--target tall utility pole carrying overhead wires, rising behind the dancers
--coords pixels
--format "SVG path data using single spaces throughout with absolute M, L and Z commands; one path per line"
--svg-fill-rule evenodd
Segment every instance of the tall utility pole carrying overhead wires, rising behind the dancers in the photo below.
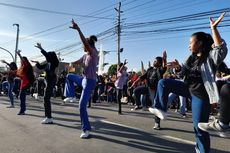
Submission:
M 120 41 L 121 41 L 121 2 L 119 2 L 118 8 L 115 8 L 117 11 L 117 71 L 121 63 L 120 60 Z M 117 94 L 118 95 L 118 94 Z M 118 98 L 118 97 L 117 97 Z M 121 100 L 118 100 L 118 114 L 121 114 Z

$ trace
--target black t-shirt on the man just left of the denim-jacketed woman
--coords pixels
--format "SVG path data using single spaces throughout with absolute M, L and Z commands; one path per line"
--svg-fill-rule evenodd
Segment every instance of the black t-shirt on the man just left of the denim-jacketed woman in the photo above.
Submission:
M 166 71 L 166 68 L 153 68 L 150 67 L 147 69 L 145 74 L 143 74 L 140 79 L 147 80 L 147 86 L 151 89 L 156 90 L 157 88 L 157 83 L 160 79 L 163 78 L 163 74 Z

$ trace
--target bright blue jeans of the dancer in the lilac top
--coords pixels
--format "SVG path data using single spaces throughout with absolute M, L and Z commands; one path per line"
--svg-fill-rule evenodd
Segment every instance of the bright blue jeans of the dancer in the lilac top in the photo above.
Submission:
M 96 80 L 83 78 L 82 76 L 76 74 L 68 74 L 66 76 L 64 96 L 75 97 L 74 83 L 82 87 L 81 97 L 79 100 L 81 128 L 83 131 L 91 130 L 87 113 L 87 103 L 90 99 L 93 89 L 96 86 Z

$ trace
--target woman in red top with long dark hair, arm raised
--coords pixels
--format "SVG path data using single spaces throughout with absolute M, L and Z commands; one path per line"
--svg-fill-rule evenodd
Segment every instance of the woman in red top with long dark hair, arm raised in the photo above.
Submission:
M 22 57 L 20 50 L 17 51 L 18 56 L 21 59 L 21 66 L 17 70 L 17 76 L 21 80 L 20 86 L 20 111 L 18 115 L 25 115 L 26 111 L 26 92 L 30 88 L 31 80 L 34 78 L 33 67 L 26 57 Z M 31 79 L 32 78 L 32 79 Z

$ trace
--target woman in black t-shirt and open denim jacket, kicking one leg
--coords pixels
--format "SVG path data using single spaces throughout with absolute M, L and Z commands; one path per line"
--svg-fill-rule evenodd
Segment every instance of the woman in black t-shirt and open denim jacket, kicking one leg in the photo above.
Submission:
M 180 77 L 184 82 L 173 79 L 162 79 L 158 83 L 155 97 L 155 108 L 149 111 L 160 119 L 167 117 L 168 94 L 175 93 L 191 98 L 192 119 L 195 131 L 197 153 L 210 152 L 209 133 L 198 128 L 199 122 L 208 122 L 210 103 L 219 101 L 218 89 L 215 82 L 215 72 L 227 55 L 225 42 L 217 31 L 217 25 L 224 14 L 213 21 L 210 18 L 212 35 L 204 32 L 192 34 L 189 49 L 192 54 L 183 66 L 181 66 Z M 168 67 L 179 67 L 178 61 L 168 63 Z

